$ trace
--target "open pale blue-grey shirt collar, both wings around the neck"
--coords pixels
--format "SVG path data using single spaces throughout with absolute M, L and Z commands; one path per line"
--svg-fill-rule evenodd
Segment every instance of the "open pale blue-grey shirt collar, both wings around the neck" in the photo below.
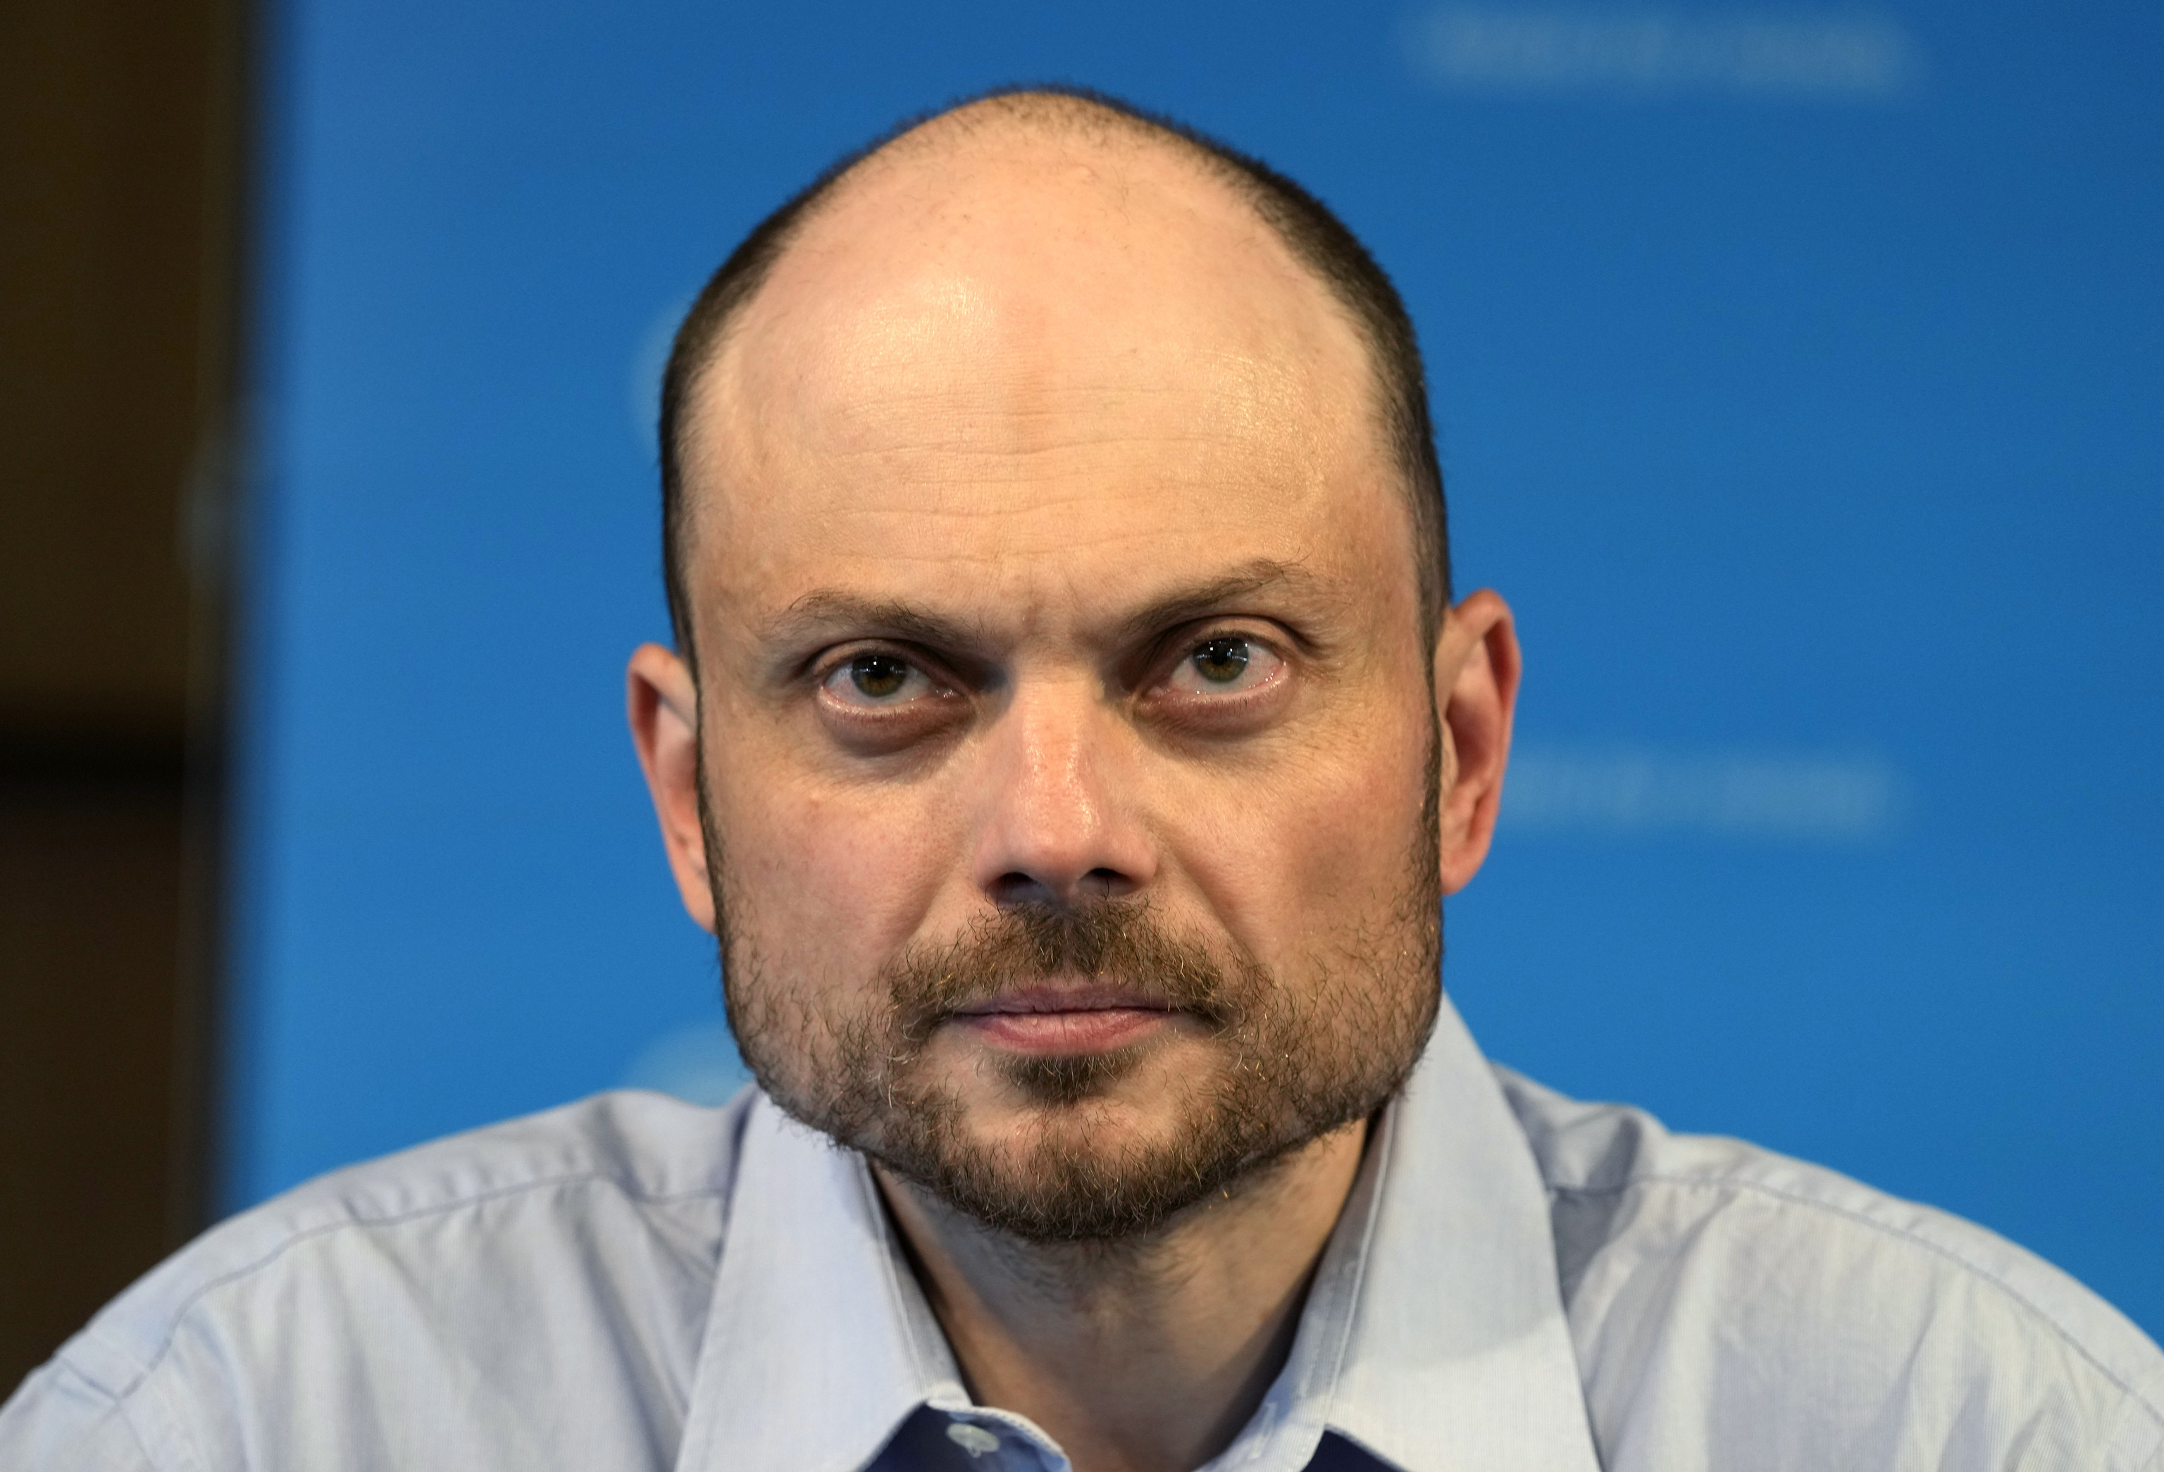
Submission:
M 755 1100 L 677 1472 L 848 1472 L 922 1405 L 969 1398 L 863 1158 Z M 1212 1468 L 1301 1468 L 1324 1431 L 1407 1472 L 1599 1468 L 1547 1195 L 1448 998 L 1283 1372 Z

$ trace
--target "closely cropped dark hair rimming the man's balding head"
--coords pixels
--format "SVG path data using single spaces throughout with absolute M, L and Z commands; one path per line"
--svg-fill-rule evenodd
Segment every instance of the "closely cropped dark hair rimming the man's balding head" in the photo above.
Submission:
M 1443 502 L 1443 470 L 1435 459 L 1435 424 L 1428 418 L 1428 381 L 1420 362 L 1413 318 L 1374 262 L 1359 236 L 1331 214 L 1329 206 L 1288 180 L 1270 165 L 1242 154 L 1216 139 L 1160 113 L 1149 113 L 1119 97 L 1086 87 L 1002 87 L 963 97 L 937 113 L 911 117 L 863 147 L 831 162 L 816 180 L 792 195 L 779 210 L 753 225 L 751 234 L 729 251 L 721 268 L 692 301 L 677 327 L 669 368 L 662 374 L 660 461 L 662 461 L 662 582 L 669 589 L 669 623 L 677 649 L 692 658 L 690 597 L 684 580 L 684 543 L 690 511 L 684 494 L 682 433 L 684 413 L 699 377 L 721 346 L 736 312 L 764 286 L 781 251 L 859 162 L 881 152 L 920 126 L 961 108 L 1008 100 L 1019 108 L 1034 102 L 1065 106 L 1073 113 L 1097 113 L 1099 119 L 1123 121 L 1138 134 L 1162 143 L 1186 145 L 1210 173 L 1229 184 L 1262 221 L 1277 232 L 1292 255 L 1320 277 L 1331 297 L 1352 316 L 1368 346 L 1381 394 L 1378 411 L 1389 448 L 1404 476 L 1404 496 L 1413 513 L 1413 558 L 1420 576 L 1422 630 L 1433 643 L 1450 606 L 1450 517 Z

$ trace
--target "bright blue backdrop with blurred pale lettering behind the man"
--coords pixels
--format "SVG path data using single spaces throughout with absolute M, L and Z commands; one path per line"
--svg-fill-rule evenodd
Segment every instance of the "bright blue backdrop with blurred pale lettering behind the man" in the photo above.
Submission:
M 1006 80 L 1314 186 L 1430 357 L 1521 760 L 1497 1059 L 1974 1217 L 2164 1331 L 2155 6 L 288 0 L 227 1201 L 725 1089 L 621 665 L 673 316 Z

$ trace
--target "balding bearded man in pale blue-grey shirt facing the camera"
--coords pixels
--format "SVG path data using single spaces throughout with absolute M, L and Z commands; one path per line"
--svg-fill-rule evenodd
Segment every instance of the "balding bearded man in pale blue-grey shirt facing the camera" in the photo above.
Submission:
M 258 1208 L 0 1463 L 2164 1468 L 2019 1249 L 1480 1061 L 1517 643 L 1292 184 L 978 100 L 740 247 L 662 420 L 632 732 L 760 1089 Z

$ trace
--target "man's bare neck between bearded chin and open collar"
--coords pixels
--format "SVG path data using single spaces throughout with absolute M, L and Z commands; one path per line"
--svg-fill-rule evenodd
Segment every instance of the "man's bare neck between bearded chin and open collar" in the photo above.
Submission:
M 1365 1123 L 1132 1243 L 1021 1243 L 876 1169 L 980 1405 L 1045 1429 L 1076 1472 L 1186 1472 L 1246 1424 L 1359 1173 Z

